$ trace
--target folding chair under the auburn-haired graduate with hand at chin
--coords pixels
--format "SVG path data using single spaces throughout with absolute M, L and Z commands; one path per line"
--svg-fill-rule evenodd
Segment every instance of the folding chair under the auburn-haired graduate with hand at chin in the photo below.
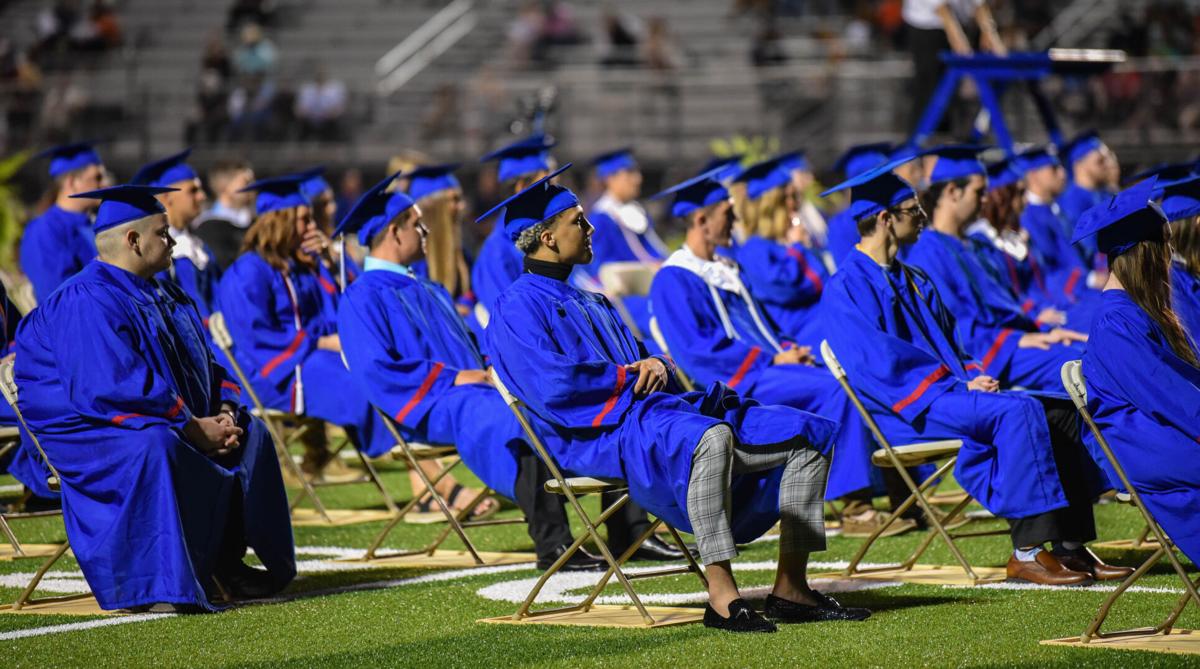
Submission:
M 361 477 L 350 481 L 322 481 L 306 475 L 304 470 L 300 469 L 300 465 L 292 458 L 289 446 L 295 444 L 305 430 L 313 429 L 314 422 L 302 416 L 288 414 L 287 411 L 280 411 L 277 409 L 268 409 L 263 405 L 258 393 L 254 392 L 254 387 L 250 384 L 250 379 L 246 376 L 245 370 L 242 370 L 241 366 L 238 364 L 238 358 L 234 357 L 234 342 L 233 337 L 229 334 L 229 329 L 226 326 L 224 314 L 221 312 L 214 312 L 209 315 L 209 332 L 212 334 L 212 343 L 221 349 L 226 360 L 229 361 L 229 366 L 238 376 L 238 381 L 240 382 L 242 390 L 245 390 L 250 396 L 250 400 L 253 404 L 253 412 L 258 417 L 263 418 L 263 422 L 266 424 L 266 430 L 270 433 L 271 441 L 275 444 L 275 452 L 280 457 L 281 466 L 300 482 L 300 494 L 292 500 L 289 507 L 293 517 L 295 516 L 296 507 L 300 502 L 304 501 L 305 498 L 308 498 L 312 501 L 312 506 L 317 514 L 325 523 L 336 524 L 335 519 L 329 513 L 328 507 L 317 494 L 317 488 L 330 486 L 353 486 L 358 483 L 371 483 L 374 486 L 374 488 L 379 490 L 379 495 L 383 498 L 388 511 L 390 513 L 398 511 L 396 502 L 392 500 L 386 488 L 384 488 L 383 482 L 379 480 L 379 472 L 376 470 L 374 464 L 358 448 L 354 448 L 354 452 L 358 454 L 359 462 L 362 464 L 364 475 Z M 320 424 L 323 426 L 323 423 Z M 283 436 L 284 434 L 287 434 L 287 438 Z M 337 457 L 348 442 L 348 439 L 343 440 L 334 450 L 334 457 Z M 365 518 L 365 520 L 374 519 L 376 518 Z

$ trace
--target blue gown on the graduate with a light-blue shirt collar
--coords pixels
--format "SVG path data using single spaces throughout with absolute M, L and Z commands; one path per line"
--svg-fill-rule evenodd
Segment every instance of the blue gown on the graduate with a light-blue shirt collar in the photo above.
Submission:
M 365 272 L 337 308 L 346 360 L 371 403 L 406 439 L 454 444 L 484 483 L 512 499 L 521 426 L 487 384 L 455 386 L 486 363 L 445 288 L 386 270 Z

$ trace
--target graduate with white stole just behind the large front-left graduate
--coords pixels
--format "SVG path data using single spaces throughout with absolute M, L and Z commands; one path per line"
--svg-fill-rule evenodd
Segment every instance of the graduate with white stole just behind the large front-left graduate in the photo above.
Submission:
M 191 153 L 192 150 L 188 149 L 143 165 L 130 182 L 174 188 L 164 193 L 161 201 L 167 210 L 167 222 L 170 223 L 170 236 L 175 240 L 175 246 L 172 248 L 170 267 L 156 278 L 178 284 L 196 302 L 200 319 L 206 324 L 216 302 L 221 267 L 214 260 L 209 246 L 192 234 L 192 221 L 199 216 L 205 195 L 199 175 L 187 164 Z

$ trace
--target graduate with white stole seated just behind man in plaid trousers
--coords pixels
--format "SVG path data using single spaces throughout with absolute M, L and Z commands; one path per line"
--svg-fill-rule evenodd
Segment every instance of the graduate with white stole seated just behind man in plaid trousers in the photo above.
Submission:
M 671 213 L 688 222 L 683 247 L 667 258 L 650 287 L 654 317 L 671 356 L 701 385 L 720 381 L 764 404 L 836 421 L 827 498 L 869 487 L 875 445 L 838 381 L 815 364 L 809 346 L 779 330 L 738 264 L 715 254 L 732 241 L 728 191 L 701 175 L 655 197 L 666 195 L 673 195 Z

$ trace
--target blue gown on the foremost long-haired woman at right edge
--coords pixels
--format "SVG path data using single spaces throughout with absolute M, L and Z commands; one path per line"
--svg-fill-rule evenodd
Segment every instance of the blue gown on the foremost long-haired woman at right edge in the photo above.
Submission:
M 1200 563 L 1200 369 L 1123 290 L 1105 290 L 1084 355 L 1087 409 L 1147 508 Z M 1120 482 L 1088 433 L 1092 456 Z

